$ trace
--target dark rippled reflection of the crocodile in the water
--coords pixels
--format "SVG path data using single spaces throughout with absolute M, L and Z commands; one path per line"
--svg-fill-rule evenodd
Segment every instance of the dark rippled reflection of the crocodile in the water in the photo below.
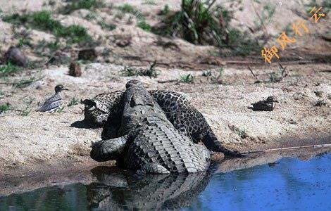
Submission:
M 211 175 L 201 172 L 137 178 L 130 173 L 92 172 L 99 181 L 87 186 L 92 210 L 179 210 L 196 200 Z

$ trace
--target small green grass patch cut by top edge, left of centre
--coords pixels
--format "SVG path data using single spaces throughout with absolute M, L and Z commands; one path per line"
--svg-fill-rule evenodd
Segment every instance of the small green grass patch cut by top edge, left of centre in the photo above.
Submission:
M 63 13 L 65 15 L 68 15 L 72 13 L 73 11 L 79 10 L 79 9 L 93 9 L 93 8 L 101 8 L 104 7 L 104 1 L 98 1 L 98 0 L 71 0 L 67 5 L 65 5 L 63 8 L 60 8 L 60 13 Z

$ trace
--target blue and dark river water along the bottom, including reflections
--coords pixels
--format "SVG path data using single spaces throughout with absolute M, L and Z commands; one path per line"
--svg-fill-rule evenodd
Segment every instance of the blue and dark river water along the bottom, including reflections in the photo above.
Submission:
M 144 178 L 96 168 L 87 185 L 0 196 L 0 210 L 331 210 L 330 153 L 230 172 L 222 165 L 208 174 Z

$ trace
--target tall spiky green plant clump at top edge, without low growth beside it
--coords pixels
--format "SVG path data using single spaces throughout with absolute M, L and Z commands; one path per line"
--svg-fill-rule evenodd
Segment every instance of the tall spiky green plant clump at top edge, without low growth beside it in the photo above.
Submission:
M 222 44 L 232 13 L 212 3 L 182 0 L 181 11 L 166 15 L 164 26 L 155 29 L 164 35 L 183 37 L 196 44 Z

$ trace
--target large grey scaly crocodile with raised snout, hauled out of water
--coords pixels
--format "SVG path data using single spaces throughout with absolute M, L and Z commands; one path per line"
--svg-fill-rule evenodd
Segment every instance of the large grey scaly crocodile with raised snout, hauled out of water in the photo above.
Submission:
M 120 137 L 92 146 L 96 161 L 118 160 L 119 165 L 139 173 L 203 172 L 210 153 L 180 134 L 142 83 L 131 80 L 123 94 Z

